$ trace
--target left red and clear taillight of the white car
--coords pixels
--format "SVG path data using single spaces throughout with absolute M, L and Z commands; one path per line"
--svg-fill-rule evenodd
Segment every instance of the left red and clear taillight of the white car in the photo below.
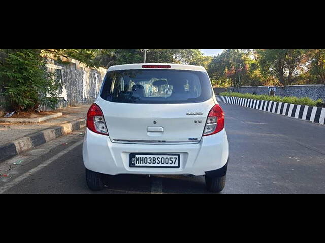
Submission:
M 88 110 L 87 128 L 94 133 L 108 135 L 103 112 L 96 104 L 92 104 Z

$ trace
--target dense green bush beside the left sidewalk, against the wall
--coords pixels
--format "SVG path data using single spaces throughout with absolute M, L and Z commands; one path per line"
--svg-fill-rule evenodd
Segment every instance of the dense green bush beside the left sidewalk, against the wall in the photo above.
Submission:
M 1 93 L 11 110 L 31 111 L 39 105 L 55 108 L 57 86 L 37 49 L 15 49 L 0 65 Z

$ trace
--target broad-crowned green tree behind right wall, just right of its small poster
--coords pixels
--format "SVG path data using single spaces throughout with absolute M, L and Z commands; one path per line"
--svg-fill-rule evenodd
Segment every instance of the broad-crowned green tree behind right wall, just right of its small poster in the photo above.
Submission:
M 276 76 L 285 87 L 299 74 L 307 49 L 258 49 L 257 53 L 264 76 Z

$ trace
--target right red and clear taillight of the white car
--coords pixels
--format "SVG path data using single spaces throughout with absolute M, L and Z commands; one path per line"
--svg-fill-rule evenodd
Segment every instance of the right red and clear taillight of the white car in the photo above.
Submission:
M 224 113 L 220 105 L 215 105 L 210 110 L 207 122 L 204 127 L 203 136 L 220 132 L 224 128 Z

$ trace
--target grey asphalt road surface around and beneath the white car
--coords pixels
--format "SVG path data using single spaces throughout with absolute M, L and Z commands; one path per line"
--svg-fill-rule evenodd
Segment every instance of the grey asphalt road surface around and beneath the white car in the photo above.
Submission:
M 245 107 L 221 106 L 226 113 L 230 162 L 220 194 L 325 193 L 325 126 Z M 85 183 L 81 132 L 0 164 L 2 173 L 11 168 L 7 177 L 0 178 L 0 193 L 208 193 L 203 176 L 140 175 L 107 177 L 105 190 L 91 192 Z M 13 165 L 18 160 L 23 162 Z

